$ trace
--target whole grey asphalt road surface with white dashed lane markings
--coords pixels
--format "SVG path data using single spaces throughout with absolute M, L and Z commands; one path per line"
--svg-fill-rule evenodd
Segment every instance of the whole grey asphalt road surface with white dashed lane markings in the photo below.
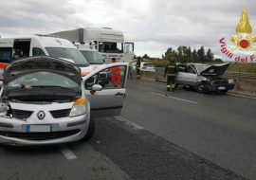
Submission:
M 256 179 L 255 99 L 129 81 L 122 114 L 88 142 L 0 146 L 0 179 Z

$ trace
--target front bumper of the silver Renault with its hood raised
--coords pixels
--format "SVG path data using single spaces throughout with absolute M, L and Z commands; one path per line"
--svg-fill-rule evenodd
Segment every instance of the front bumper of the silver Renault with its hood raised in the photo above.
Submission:
M 71 118 L 71 119 L 70 119 Z M 14 146 L 51 145 L 78 141 L 86 135 L 89 114 L 79 117 L 56 118 L 52 123 L 26 123 L 17 119 L 0 117 L 0 143 Z M 49 125 L 50 132 L 27 132 L 27 125 Z

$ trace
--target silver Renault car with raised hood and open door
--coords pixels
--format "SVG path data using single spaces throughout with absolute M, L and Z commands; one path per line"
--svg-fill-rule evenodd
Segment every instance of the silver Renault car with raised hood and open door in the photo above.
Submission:
M 101 86 L 101 74 L 121 68 L 119 87 Z M 111 63 L 86 77 L 73 63 L 33 57 L 10 63 L 0 92 L 0 143 L 46 145 L 89 139 L 98 116 L 118 115 L 127 63 Z

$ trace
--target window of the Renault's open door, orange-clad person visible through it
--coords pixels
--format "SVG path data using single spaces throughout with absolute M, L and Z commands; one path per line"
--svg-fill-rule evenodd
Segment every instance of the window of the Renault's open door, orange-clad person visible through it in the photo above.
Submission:
M 106 68 L 85 81 L 85 89 L 91 90 L 94 84 L 100 84 L 103 89 L 122 88 L 125 81 L 126 66 Z

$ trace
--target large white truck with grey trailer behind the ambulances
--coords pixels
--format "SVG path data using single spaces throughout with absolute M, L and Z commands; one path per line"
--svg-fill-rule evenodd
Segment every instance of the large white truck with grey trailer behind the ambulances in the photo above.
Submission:
M 77 28 L 47 35 L 64 38 L 73 43 L 94 43 L 106 63 L 111 63 L 112 58 L 129 63 L 135 57 L 134 43 L 124 43 L 123 32 L 109 27 Z

